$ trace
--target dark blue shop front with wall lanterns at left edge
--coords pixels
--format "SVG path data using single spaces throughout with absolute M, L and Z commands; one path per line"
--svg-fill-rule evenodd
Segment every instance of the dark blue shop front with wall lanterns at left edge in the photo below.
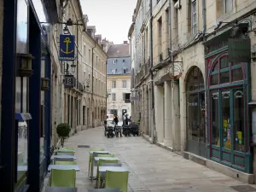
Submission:
M 43 1 L 44 2 L 44 1 Z M 39 192 L 49 164 L 50 68 L 46 5 L 4 1 L 0 189 Z M 51 5 L 52 6 L 52 5 Z M 45 26 L 43 27 L 42 23 Z

